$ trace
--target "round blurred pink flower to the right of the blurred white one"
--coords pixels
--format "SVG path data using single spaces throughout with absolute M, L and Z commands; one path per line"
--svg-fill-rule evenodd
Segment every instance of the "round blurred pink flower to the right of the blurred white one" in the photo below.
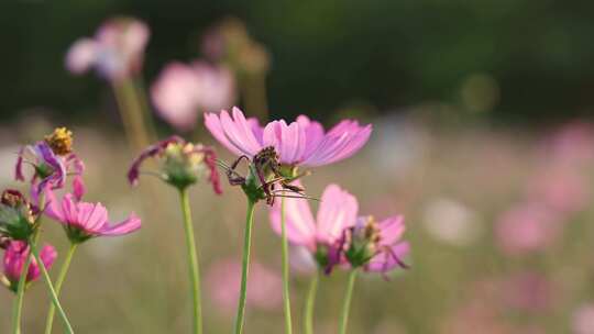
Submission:
M 505 212 L 496 223 L 497 243 L 508 255 L 546 249 L 559 236 L 558 215 L 538 203 L 525 203 Z

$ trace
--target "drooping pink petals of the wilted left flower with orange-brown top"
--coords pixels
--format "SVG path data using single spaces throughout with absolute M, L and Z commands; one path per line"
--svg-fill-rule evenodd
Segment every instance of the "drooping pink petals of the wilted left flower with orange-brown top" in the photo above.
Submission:
M 52 147 L 44 142 L 40 141 L 33 145 L 26 145 L 19 152 L 16 159 L 14 178 L 19 181 L 25 181 L 24 164 L 30 164 L 37 168 L 47 169 L 50 175 L 41 178 L 35 171 L 31 177 L 33 197 L 41 193 L 43 189 L 51 186 L 52 189 L 63 188 L 66 182 L 66 177 L 70 174 L 74 175 L 73 185 L 75 188 L 75 194 L 80 198 L 85 192 L 85 186 L 82 183 L 82 171 L 85 170 L 85 164 L 80 160 L 76 154 L 70 153 L 66 156 L 59 156 L 52 151 Z

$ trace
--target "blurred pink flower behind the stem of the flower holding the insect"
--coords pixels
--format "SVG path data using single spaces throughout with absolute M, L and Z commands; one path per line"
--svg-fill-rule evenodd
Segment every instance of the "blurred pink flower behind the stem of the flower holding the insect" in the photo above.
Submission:
M 210 298 L 226 313 L 234 311 L 241 280 L 241 264 L 222 260 L 209 268 L 206 283 Z M 273 270 L 257 261 L 252 261 L 248 280 L 246 303 L 263 310 L 276 310 L 283 302 L 282 279 Z

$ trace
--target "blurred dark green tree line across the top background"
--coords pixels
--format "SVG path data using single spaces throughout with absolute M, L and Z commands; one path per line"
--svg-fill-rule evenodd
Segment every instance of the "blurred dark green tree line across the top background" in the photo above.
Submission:
M 560 0 L 47 1 L 0 4 L 2 119 L 30 107 L 91 119 L 109 94 L 64 69 L 70 43 L 116 14 L 148 23 L 147 82 L 169 60 L 199 56 L 200 36 L 227 15 L 267 45 L 271 112 L 323 118 L 436 101 L 464 105 L 479 76 L 485 115 L 556 120 L 593 114 L 594 2 Z M 471 97 L 472 100 L 472 97 Z M 479 103 L 481 104 L 481 103 Z

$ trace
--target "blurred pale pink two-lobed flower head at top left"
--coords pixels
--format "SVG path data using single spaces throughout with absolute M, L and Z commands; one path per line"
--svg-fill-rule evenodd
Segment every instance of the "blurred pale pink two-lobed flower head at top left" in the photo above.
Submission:
M 132 18 L 114 18 L 103 23 L 92 38 L 76 41 L 66 55 L 66 68 L 80 75 L 95 68 L 100 76 L 119 80 L 142 68 L 150 31 Z

